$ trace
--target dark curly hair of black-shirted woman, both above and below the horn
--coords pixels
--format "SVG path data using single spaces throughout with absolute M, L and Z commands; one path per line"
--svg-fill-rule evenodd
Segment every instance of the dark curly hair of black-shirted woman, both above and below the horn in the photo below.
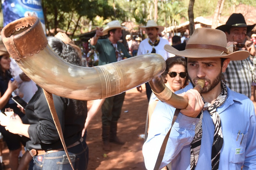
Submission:
M 52 36 L 47 37 L 47 40 L 53 51 L 58 54 L 63 60 L 77 66 L 82 65 L 81 58 L 72 46 L 65 44 L 59 38 Z M 75 114 L 82 115 L 87 113 L 87 101 L 73 100 L 73 103 L 75 106 Z

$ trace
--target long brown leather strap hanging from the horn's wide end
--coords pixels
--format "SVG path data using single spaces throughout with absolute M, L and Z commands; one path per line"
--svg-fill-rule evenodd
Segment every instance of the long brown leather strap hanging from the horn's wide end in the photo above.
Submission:
M 43 91 L 44 91 L 44 95 L 45 95 L 46 101 L 48 103 L 48 106 L 49 106 L 51 114 L 52 114 L 53 122 L 54 122 L 54 124 L 56 126 L 56 129 L 57 129 L 58 133 L 59 133 L 60 141 L 61 141 L 61 143 L 63 145 L 63 148 L 64 148 L 64 151 L 65 151 L 65 153 L 66 153 L 66 155 L 68 157 L 69 164 L 71 165 L 72 169 L 74 170 L 74 167 L 73 167 L 73 165 L 71 163 L 71 159 L 70 159 L 69 154 L 68 154 L 68 149 L 67 149 L 65 141 L 64 141 L 63 133 L 62 133 L 61 126 L 60 126 L 60 120 L 58 118 L 57 112 L 56 112 L 55 107 L 54 107 L 52 93 L 47 92 L 44 89 L 43 89 Z

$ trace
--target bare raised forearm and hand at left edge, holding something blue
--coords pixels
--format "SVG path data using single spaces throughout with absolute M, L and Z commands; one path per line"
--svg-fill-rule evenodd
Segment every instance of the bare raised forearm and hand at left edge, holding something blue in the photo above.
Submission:
M 9 80 L 7 90 L 4 92 L 3 96 L 0 97 L 0 109 L 2 109 L 8 103 L 12 95 L 12 92 L 17 88 L 18 88 L 17 81 L 14 80 L 13 82 L 11 82 L 11 80 Z M 1 93 L 0 93 L 0 96 L 1 96 Z

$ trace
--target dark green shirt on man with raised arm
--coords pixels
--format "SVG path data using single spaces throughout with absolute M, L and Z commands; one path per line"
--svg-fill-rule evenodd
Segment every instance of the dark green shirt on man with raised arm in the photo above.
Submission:
M 124 54 L 124 56 L 127 58 L 132 57 L 122 43 L 117 42 L 116 44 L 117 49 L 121 54 Z M 116 49 L 114 48 L 114 46 L 108 38 L 98 40 L 97 44 L 94 47 L 95 50 L 99 52 L 99 65 L 117 62 Z

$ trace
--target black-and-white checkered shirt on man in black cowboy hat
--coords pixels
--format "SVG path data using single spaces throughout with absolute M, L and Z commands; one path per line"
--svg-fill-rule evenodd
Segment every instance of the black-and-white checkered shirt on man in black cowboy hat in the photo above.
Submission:
M 255 82 L 256 57 L 251 56 L 241 61 L 230 61 L 226 72 L 223 74 L 223 81 L 233 91 L 246 95 L 251 99 L 252 81 Z

